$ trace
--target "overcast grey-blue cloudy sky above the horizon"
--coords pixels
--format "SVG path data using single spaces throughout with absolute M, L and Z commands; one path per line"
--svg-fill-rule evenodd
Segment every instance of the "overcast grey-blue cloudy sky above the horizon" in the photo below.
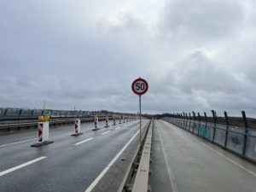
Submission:
M 256 115 L 254 0 L 0 0 L 0 107 Z

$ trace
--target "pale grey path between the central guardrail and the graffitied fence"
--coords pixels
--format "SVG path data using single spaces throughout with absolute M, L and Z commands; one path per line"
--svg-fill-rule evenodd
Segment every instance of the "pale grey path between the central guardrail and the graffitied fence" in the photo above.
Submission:
M 255 192 L 256 166 L 163 120 L 154 121 L 153 192 Z

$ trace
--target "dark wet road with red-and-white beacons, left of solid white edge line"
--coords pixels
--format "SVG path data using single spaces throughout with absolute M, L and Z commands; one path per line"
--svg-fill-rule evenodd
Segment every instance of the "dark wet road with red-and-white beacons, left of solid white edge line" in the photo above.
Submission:
M 104 125 L 81 124 L 79 137 L 73 125 L 50 129 L 54 143 L 39 148 L 30 147 L 37 131 L 0 136 L 0 191 L 84 192 L 139 129 L 139 121 Z

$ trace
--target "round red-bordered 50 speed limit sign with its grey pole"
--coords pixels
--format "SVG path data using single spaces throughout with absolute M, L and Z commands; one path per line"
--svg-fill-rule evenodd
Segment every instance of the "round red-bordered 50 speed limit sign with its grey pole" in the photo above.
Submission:
M 131 84 L 131 90 L 139 96 L 140 109 L 140 145 L 142 145 L 142 95 L 148 91 L 148 82 L 145 79 L 135 79 Z

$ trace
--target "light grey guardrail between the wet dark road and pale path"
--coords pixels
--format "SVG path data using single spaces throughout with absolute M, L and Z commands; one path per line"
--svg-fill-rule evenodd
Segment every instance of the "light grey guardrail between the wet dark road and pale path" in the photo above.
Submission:
M 148 191 L 148 176 L 149 176 L 149 163 L 151 154 L 151 141 L 152 141 L 152 127 L 153 120 L 148 129 L 148 135 L 143 147 L 141 160 L 137 168 L 137 174 L 133 183 L 132 192 L 147 192 Z

